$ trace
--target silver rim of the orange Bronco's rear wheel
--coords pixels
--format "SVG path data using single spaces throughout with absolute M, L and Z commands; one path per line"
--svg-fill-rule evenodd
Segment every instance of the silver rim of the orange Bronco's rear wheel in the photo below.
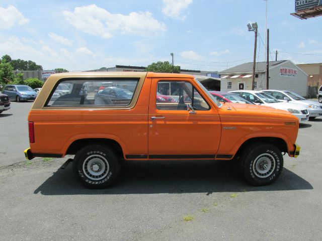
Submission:
M 109 171 L 109 162 L 101 155 L 91 155 L 83 162 L 83 172 L 85 176 L 92 180 L 101 180 L 105 178 Z

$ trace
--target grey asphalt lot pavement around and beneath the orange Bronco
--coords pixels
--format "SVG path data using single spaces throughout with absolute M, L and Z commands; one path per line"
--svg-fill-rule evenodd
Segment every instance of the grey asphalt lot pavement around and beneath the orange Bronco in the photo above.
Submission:
M 300 156 L 284 156 L 269 186 L 230 162 L 132 161 L 113 187 L 90 190 L 60 169 L 65 159 L 24 160 L 31 104 L 0 115 L 1 240 L 321 239 L 322 118 L 300 126 Z

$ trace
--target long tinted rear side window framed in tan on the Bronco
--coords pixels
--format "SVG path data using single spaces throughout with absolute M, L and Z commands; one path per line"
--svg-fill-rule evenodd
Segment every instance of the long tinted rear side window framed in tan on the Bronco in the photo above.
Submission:
M 52 91 L 47 106 L 127 106 L 139 79 L 66 79 Z

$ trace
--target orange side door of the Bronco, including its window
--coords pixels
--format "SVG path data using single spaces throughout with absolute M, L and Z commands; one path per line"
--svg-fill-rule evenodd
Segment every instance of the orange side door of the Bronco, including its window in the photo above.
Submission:
M 221 124 L 216 106 L 192 79 L 152 78 L 148 113 L 149 159 L 214 159 Z M 157 92 L 170 101 L 157 100 Z M 193 109 L 187 110 L 187 104 Z

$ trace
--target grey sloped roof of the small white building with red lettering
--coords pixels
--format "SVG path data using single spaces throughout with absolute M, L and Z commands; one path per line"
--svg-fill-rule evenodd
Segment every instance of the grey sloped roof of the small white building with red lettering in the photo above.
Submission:
M 278 64 L 281 64 L 283 62 L 286 62 L 288 60 L 280 60 L 280 61 L 270 61 L 269 66 L 270 68 L 273 66 L 276 66 Z M 256 69 L 255 73 L 265 72 L 266 71 L 266 62 L 258 62 L 256 63 Z M 218 74 L 246 74 L 246 73 L 253 73 L 253 62 L 250 63 L 244 63 L 239 64 L 237 66 L 234 66 L 229 69 L 225 69 L 223 71 L 220 71 Z

